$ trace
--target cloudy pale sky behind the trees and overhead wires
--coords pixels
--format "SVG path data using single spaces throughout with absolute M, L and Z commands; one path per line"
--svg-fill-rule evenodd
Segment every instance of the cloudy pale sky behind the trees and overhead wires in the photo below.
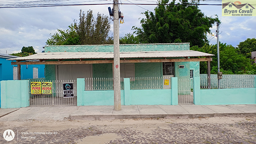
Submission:
M 44 4 L 90 4 L 112 3 L 112 0 L 4 0 L 0 7 L 38 6 Z M 119 0 L 119 3 L 157 3 L 157 0 Z M 221 4 L 220 0 L 204 1 L 207 4 Z M 41 52 L 57 29 L 66 30 L 73 20 L 79 19 L 79 11 L 93 10 L 94 17 L 99 12 L 108 15 L 108 7 L 112 5 L 89 6 L 57 6 L 57 7 L 30 7 L 30 8 L 0 8 L 0 53 L 17 53 L 23 46 L 33 46 L 36 52 Z M 124 14 L 124 22 L 120 24 L 119 35 L 132 33 L 132 26 L 140 27 L 141 14 L 147 10 L 154 12 L 156 6 L 120 5 Z M 222 17 L 221 6 L 199 6 L 208 17 L 218 15 L 221 20 L 220 41 L 237 46 L 247 38 L 256 37 L 256 17 Z M 216 24 L 212 27 L 215 33 Z M 113 22 L 111 23 L 113 32 Z M 210 43 L 216 43 L 216 37 L 209 35 Z

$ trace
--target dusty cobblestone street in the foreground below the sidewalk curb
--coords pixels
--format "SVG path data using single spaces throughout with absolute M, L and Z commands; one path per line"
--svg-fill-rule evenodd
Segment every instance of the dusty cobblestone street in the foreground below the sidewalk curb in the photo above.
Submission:
M 0 125 L 1 133 L 15 132 L 10 144 L 256 144 L 256 117 L 29 120 Z

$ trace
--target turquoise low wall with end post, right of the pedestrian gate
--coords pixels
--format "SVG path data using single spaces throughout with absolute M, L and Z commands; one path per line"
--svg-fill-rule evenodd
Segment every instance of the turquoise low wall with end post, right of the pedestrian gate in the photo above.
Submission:
M 194 78 L 195 105 L 256 104 L 256 88 L 200 89 L 200 78 Z

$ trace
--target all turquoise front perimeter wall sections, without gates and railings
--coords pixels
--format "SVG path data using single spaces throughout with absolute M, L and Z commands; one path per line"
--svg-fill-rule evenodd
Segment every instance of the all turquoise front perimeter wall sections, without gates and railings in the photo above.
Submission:
M 113 105 L 113 90 L 85 91 L 84 78 L 77 79 L 77 106 Z M 29 106 L 29 80 L 1 81 L 1 108 Z M 13 90 L 15 89 L 15 90 Z M 256 104 L 256 88 L 200 89 L 200 78 L 193 81 L 195 105 Z M 131 90 L 129 78 L 121 90 L 122 105 L 177 105 L 177 77 L 171 78 L 171 89 Z

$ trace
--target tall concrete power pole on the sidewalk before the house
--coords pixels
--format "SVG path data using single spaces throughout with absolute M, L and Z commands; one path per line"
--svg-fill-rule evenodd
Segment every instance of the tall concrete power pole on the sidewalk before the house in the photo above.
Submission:
M 119 55 L 119 9 L 118 0 L 113 0 L 114 17 L 114 110 L 121 110 L 120 55 Z

